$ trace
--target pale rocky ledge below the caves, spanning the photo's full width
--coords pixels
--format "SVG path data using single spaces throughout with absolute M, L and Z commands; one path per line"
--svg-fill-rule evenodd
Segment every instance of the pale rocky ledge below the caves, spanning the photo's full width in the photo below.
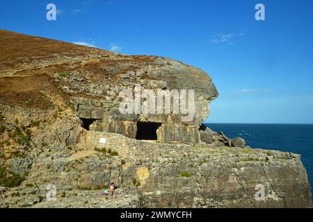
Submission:
M 47 146 L 10 170 L 26 180 L 1 188 L 1 207 L 309 207 L 310 184 L 300 156 L 252 148 L 141 142 L 92 133 L 106 148 Z M 36 151 L 31 151 L 35 154 Z M 102 195 L 115 181 L 117 198 Z M 49 185 L 56 200 L 47 200 Z M 256 199 L 264 186 L 264 200 Z

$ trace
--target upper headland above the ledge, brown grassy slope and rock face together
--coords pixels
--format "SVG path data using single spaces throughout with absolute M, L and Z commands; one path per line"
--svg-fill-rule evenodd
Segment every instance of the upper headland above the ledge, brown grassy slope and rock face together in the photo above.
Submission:
M 31 91 L 10 88 L 3 94 L 3 100 L 8 101 L 6 95 L 13 97 L 21 90 L 29 93 L 25 97 L 34 97 L 31 93 L 62 93 L 77 116 L 86 122 L 88 130 L 136 138 L 138 122 L 143 122 L 158 126 L 159 142 L 200 143 L 198 128 L 207 119 L 210 101 L 218 96 L 211 78 L 204 71 L 168 58 L 126 56 L 6 31 L 1 31 L 1 36 L 6 44 L 3 44 L 0 74 L 3 81 L 10 79 L 9 83 L 3 84 L 13 86 L 17 84 L 13 78 L 19 77 L 19 86 L 31 87 Z M 8 45 L 10 49 L 6 48 Z M 38 81 L 38 85 L 30 86 L 33 80 Z M 121 114 L 120 92 L 128 90 L 135 97 L 136 86 L 141 87 L 141 91 L 152 92 L 147 95 L 146 102 L 150 101 L 150 94 L 169 94 L 172 89 L 178 92 L 181 89 L 194 90 L 194 104 L 190 107 L 195 108 L 195 118 L 182 122 L 182 117 L 188 117 L 188 114 L 182 114 L 180 109 L 175 113 L 174 105 L 170 105 L 169 113 L 166 113 L 166 103 L 154 104 L 155 112 L 158 105 L 162 106 L 162 114 L 136 113 L 135 104 L 134 112 Z M 188 99 L 188 91 L 186 94 Z M 179 100 L 179 96 L 175 98 L 170 94 L 171 104 Z M 155 101 L 157 103 L 157 98 Z

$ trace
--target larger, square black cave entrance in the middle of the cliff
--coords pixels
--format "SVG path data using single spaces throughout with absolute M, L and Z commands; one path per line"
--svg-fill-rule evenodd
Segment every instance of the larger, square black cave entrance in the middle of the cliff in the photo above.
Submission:
M 157 140 L 157 129 L 161 123 L 137 122 L 136 139 L 140 140 Z

